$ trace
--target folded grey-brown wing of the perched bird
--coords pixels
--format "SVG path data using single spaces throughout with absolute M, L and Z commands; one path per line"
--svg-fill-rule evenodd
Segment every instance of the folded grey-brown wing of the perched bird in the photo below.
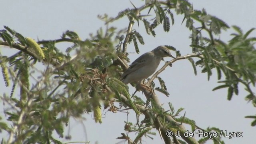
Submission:
M 151 53 L 152 52 L 147 52 L 145 54 L 142 54 L 140 57 L 138 57 L 136 60 L 134 60 L 134 62 L 132 62 L 130 67 L 124 72 L 124 74 L 122 74 L 120 79 L 123 80 L 128 74 L 145 66 L 146 61 L 149 60 Z

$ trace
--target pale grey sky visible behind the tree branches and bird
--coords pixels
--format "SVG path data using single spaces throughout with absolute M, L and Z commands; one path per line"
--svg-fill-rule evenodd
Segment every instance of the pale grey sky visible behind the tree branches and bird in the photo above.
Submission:
M 131 1 L 138 7 L 144 4 L 142 0 Z M 189 2 L 193 4 L 194 9 L 201 10 L 205 8 L 208 14 L 217 16 L 229 26 L 237 25 L 244 32 L 256 26 L 255 0 L 189 0 Z M 115 17 L 118 12 L 126 8 L 132 8 L 129 0 L 2 0 L 0 29 L 4 29 L 4 25 L 9 26 L 23 36 L 35 40 L 37 38 L 39 40 L 58 39 L 63 32 L 71 30 L 77 32 L 84 40 L 89 37 L 89 33 L 95 33 L 100 27 L 104 28 L 104 22 L 97 18 L 98 14 L 106 13 Z M 131 61 L 159 45 L 171 45 L 180 50 L 182 55 L 190 54 L 191 48 L 189 45 L 191 40 L 188 38 L 190 32 L 185 28 L 185 24 L 181 24 L 183 16 L 174 16 L 174 18 L 175 24 L 171 26 L 170 32 L 164 32 L 162 26 L 160 26 L 156 29 L 156 38 L 146 34 L 142 23 L 140 27 L 135 25 L 134 29 L 143 36 L 145 45 L 139 45 L 140 54 L 129 55 Z M 111 25 L 118 29 L 126 28 L 128 27 L 128 18 L 124 17 Z M 232 32 L 234 30 L 228 30 L 219 37 L 224 41 L 230 40 L 229 35 Z M 254 31 L 250 36 L 256 36 L 256 32 Z M 62 44 L 60 48 L 65 50 L 66 47 L 66 44 Z M 17 52 L 6 47 L 0 47 L 0 50 L 2 54 L 8 56 Z M 128 45 L 128 52 L 135 52 L 133 44 Z M 170 58 L 165 58 L 165 60 L 170 60 Z M 163 64 L 164 62 L 160 64 L 158 69 Z M 239 85 L 239 95 L 234 95 L 232 100 L 228 101 L 226 89 L 212 92 L 212 88 L 218 86 L 214 70 L 210 81 L 207 81 L 207 74 L 200 73 L 200 68 L 198 68 L 198 75 L 194 76 L 192 66 L 188 60 L 179 60 L 172 65 L 160 74 L 166 82 L 170 97 L 157 93 L 160 102 L 164 104 L 165 110 L 168 110 L 167 102 L 172 102 L 175 110 L 180 107 L 185 108 L 181 114 L 186 111 L 186 117 L 195 120 L 201 128 L 206 129 L 210 126 L 228 132 L 243 132 L 243 138 L 222 138 L 226 144 L 251 144 L 255 140 L 255 127 L 250 126 L 252 119 L 244 118 L 244 116 L 255 115 L 256 111 L 251 103 L 244 100 L 247 92 L 241 84 Z M 0 76 L 0 87 L 4 88 L 2 76 Z M 130 92 L 134 92 L 133 90 L 133 88 L 130 88 Z M 0 95 L 3 92 L 9 94 L 10 88 L 1 90 Z M 141 93 L 137 93 L 137 95 L 145 99 Z M 2 107 L 2 104 L 0 107 Z M 3 110 L 1 109 L 0 112 L 2 113 Z M 3 116 L 3 114 L 1 115 Z M 124 132 L 126 113 L 113 114 L 107 112 L 106 118 L 102 118 L 102 124 L 95 124 L 92 115 L 84 115 L 84 117 L 86 118 L 83 121 L 86 132 L 84 132 L 79 120 L 72 119 L 70 125 L 72 140 L 62 139 L 62 142 L 90 141 L 90 144 L 94 144 L 96 141 L 98 141 L 98 144 L 120 142 L 116 138 Z M 135 122 L 134 113 L 129 115 L 129 120 Z M 186 128 L 191 130 L 189 126 Z M 67 131 L 64 135 L 66 134 Z M 0 139 L 4 137 L 6 137 L 5 134 L 0 134 Z M 58 139 L 58 137 L 56 138 Z M 153 138 L 154 140 L 143 137 L 144 144 L 164 143 L 158 133 Z M 207 144 L 212 144 L 212 141 L 208 141 Z

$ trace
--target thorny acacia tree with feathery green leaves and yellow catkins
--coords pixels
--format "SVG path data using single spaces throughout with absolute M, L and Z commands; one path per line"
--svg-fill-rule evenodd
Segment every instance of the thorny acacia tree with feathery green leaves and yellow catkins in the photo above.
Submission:
M 189 124 L 191 131 L 199 129 L 220 134 L 221 130 L 200 128 L 185 115 L 179 116 L 183 109 L 175 111 L 171 103 L 170 109 L 164 110 L 154 93 L 157 90 L 169 95 L 164 80 L 158 74 L 183 59 L 191 62 L 195 75 L 196 67 L 202 67 L 202 73 L 208 75 L 208 80 L 212 70 L 216 70 L 220 85 L 213 90 L 227 88 L 228 100 L 233 94 L 238 94 L 238 84 L 244 85 L 248 92 L 246 100 L 256 106 L 256 95 L 251 89 L 255 87 L 256 80 L 256 38 L 248 37 L 254 28 L 243 33 L 238 26 L 232 26 L 235 33 L 226 43 L 217 39 L 216 35 L 230 27 L 204 9 L 194 10 L 186 0 L 146 0 L 140 7 L 132 5 L 134 8 L 123 10 L 114 18 L 99 16 L 106 23 L 106 30 L 100 28 L 86 40 L 81 40 L 75 32 L 66 31 L 59 39 L 36 42 L 8 26 L 0 30 L 0 45 L 18 50 L 12 56 L 0 56 L 5 85 L 12 84 L 11 92 L 0 97 L 7 104 L 4 118 L 10 122 L 0 121 L 0 130 L 9 133 L 9 138 L 2 139 L 2 143 L 61 143 L 54 138 L 53 131 L 64 137 L 64 125 L 68 125 L 70 117 L 81 118 L 85 112 L 93 112 L 95 122 L 101 123 L 103 109 L 111 112 L 128 110 L 134 111 L 137 116 L 144 115 L 144 119 L 138 117 L 135 124 L 127 121 L 124 126 L 126 134 L 118 137 L 129 144 L 141 143 L 143 136 L 152 134 L 152 129 L 159 131 L 166 144 L 204 143 L 209 138 L 196 140 L 184 136 L 186 129 L 183 124 Z M 142 15 L 143 12 L 147 15 Z M 144 92 L 146 102 L 136 95 L 131 97 L 128 86 L 118 78 L 128 68 L 128 44 L 133 43 L 137 53 L 138 42 L 144 44 L 141 34 L 133 28 L 134 24 L 144 25 L 145 32 L 156 37 L 154 29 L 158 26 L 169 32 L 171 24 L 174 24 L 174 14 L 184 16 L 183 22 L 191 32 L 191 54 L 182 55 L 182 51 L 167 46 L 176 52 L 177 57 L 166 62 L 146 80 L 152 90 L 132 84 Z M 108 26 L 121 18 L 129 19 L 128 28 L 118 30 Z M 56 44 L 62 42 L 73 45 L 66 48 L 66 52 L 61 52 Z M 76 52 L 76 55 L 70 56 L 71 52 Z M 154 79 L 158 79 L 160 86 L 156 86 Z M 19 94 L 15 95 L 18 89 Z M 252 118 L 252 126 L 256 125 L 256 116 L 247 118 Z M 178 130 L 181 138 L 166 136 L 167 130 Z M 138 132 L 134 140 L 129 137 L 132 132 Z M 66 138 L 70 139 L 70 136 Z M 214 143 L 224 143 L 220 138 L 211 139 Z

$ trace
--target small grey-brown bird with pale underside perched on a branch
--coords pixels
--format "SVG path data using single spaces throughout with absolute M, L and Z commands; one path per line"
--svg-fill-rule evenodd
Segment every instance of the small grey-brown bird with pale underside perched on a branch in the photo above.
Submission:
M 134 60 L 119 80 L 124 84 L 141 82 L 151 76 L 158 68 L 160 61 L 167 56 L 175 59 L 166 46 L 158 46 L 154 50 L 146 52 Z

